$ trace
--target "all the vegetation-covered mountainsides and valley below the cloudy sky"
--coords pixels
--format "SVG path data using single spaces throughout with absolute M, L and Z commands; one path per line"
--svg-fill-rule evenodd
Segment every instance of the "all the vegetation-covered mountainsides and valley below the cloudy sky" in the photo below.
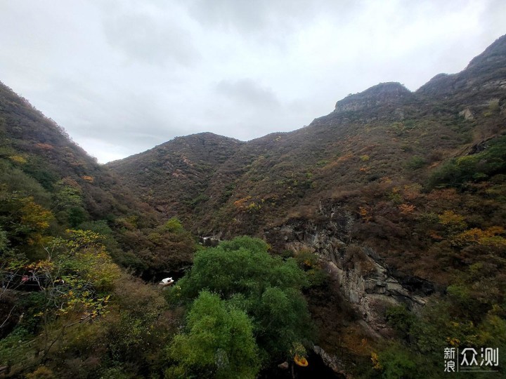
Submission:
M 297 131 L 105 166 L 0 84 L 0 168 L 0 375 L 290 378 L 323 361 L 439 378 L 450 348 L 499 348 L 469 377 L 505 375 L 506 36 Z

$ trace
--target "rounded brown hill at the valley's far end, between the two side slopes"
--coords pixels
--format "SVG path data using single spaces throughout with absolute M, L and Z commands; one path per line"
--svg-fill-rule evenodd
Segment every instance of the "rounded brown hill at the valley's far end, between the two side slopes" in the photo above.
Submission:
M 158 211 L 184 217 L 209 199 L 205 193 L 216 168 L 242 144 L 213 133 L 188 135 L 108 167 Z

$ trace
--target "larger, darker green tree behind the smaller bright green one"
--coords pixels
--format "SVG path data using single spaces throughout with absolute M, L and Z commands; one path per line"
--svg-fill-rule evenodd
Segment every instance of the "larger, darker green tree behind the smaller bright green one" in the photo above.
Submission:
M 202 291 L 210 291 L 219 297 L 215 306 L 223 307 L 223 312 L 245 312 L 259 348 L 257 362 L 262 364 L 290 356 L 294 343 L 311 337 L 309 313 L 301 295 L 306 275 L 293 258 L 276 258 L 267 250 L 264 241 L 237 237 L 200 251 L 192 270 L 169 293 L 170 302 L 186 303 L 209 298 L 212 295 Z M 190 335 L 193 327 L 190 322 Z

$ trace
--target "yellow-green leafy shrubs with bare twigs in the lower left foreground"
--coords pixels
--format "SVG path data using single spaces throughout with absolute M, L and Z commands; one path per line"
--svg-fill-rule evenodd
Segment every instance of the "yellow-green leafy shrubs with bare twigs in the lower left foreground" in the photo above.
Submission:
M 26 364 L 28 352 L 46 360 L 72 326 L 99 319 L 108 312 L 110 291 L 119 277 L 119 267 L 98 242 L 98 235 L 67 230 L 65 238 L 44 240 L 44 259 L 30 261 L 20 254 L 2 254 L 0 276 L 4 288 L 0 300 L 11 293 L 15 295 L 13 290 L 18 288 L 31 290 L 25 304 L 18 301 L 11 309 L 12 312 L 20 307 L 26 313 L 26 319 L 20 317 L 12 333 L 25 332 L 20 341 L 22 346 L 27 345 L 21 350 L 19 347 L 3 350 L 0 360 L 4 364 Z M 10 315 L 2 314 L 2 322 L 8 321 Z M 33 338 L 32 343 L 26 341 Z M 37 358 L 33 359 L 36 361 Z

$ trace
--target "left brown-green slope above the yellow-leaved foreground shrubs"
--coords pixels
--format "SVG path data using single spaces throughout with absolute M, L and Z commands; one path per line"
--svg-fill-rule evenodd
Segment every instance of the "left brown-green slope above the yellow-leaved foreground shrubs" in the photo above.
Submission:
M 0 167 L 0 232 L 8 233 L 11 248 L 16 248 L 16 239 L 26 239 L 22 233 L 16 237 L 15 230 L 27 228 L 13 226 L 13 212 L 19 209 L 11 203 L 33 199 L 32 208 L 51 221 L 44 221 L 46 234 L 58 236 L 68 227 L 100 232 L 116 262 L 146 278 L 190 262 L 189 234 L 162 227 L 167 219 L 4 84 L 0 84 Z M 158 234 L 162 237 L 156 241 L 148 237 Z M 30 259 L 45 254 L 43 244 L 22 244 L 17 250 Z M 167 253 L 160 253 L 169 246 L 170 264 Z

